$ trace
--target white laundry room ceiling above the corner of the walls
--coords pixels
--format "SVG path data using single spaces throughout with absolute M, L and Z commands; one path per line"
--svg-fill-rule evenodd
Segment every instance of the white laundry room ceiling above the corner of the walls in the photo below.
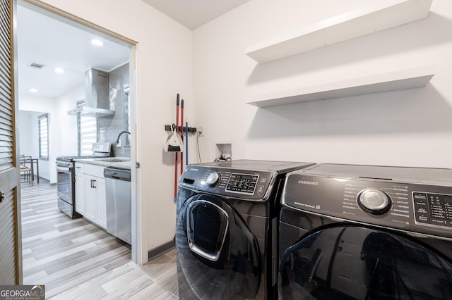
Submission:
M 146 4 L 165 13 L 185 27 L 197 27 L 218 18 L 220 15 L 249 0 L 143 0 Z

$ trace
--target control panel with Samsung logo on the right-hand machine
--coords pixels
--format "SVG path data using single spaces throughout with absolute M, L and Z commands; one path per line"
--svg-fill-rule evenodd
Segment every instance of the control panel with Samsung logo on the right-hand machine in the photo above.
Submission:
M 452 187 L 291 173 L 283 205 L 345 221 L 452 238 Z

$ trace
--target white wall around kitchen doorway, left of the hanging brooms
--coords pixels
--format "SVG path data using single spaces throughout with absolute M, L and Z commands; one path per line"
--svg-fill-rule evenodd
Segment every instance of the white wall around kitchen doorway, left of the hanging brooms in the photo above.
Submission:
M 175 234 L 174 154 L 163 153 L 162 145 L 164 125 L 175 119 L 177 93 L 186 100 L 186 112 L 192 111 L 191 31 L 141 0 L 42 2 L 138 42 L 137 184 L 148 229 L 143 242 L 148 249 L 170 242 Z

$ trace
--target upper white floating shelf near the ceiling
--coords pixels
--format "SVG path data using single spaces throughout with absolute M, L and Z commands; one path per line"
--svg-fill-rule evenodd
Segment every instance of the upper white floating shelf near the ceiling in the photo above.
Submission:
M 292 56 L 427 18 L 433 0 L 379 0 L 371 6 L 323 20 L 287 35 L 249 46 L 246 55 L 258 63 Z

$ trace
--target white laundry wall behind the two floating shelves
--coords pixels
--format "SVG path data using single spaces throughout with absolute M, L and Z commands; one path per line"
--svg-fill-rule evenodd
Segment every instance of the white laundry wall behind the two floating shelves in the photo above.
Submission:
M 194 31 L 194 98 L 204 161 L 233 158 L 452 168 L 452 2 L 429 18 L 258 64 L 246 46 L 378 0 L 251 0 Z M 252 96 L 436 65 L 427 87 L 273 108 Z

